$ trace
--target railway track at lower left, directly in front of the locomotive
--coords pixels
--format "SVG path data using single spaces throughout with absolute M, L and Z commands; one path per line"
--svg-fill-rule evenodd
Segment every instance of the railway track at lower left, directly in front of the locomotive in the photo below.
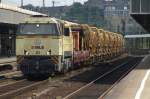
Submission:
M 44 81 L 28 81 L 26 79 L 16 81 L 14 83 L 6 84 L 0 86 L 0 99 L 9 99 L 10 97 L 17 96 L 25 91 L 31 90 L 35 86 L 46 83 L 48 80 Z

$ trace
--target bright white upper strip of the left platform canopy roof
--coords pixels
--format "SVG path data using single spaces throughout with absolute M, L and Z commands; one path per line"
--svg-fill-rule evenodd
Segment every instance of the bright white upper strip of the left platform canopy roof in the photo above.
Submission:
M 42 14 L 42 13 L 25 10 L 25 9 L 19 8 L 17 6 L 7 5 L 7 4 L 3 4 L 3 3 L 0 3 L 0 9 L 12 10 L 12 11 L 16 11 L 16 12 L 20 12 L 20 13 L 28 14 L 28 15 L 44 15 L 44 16 L 46 16 L 45 14 Z

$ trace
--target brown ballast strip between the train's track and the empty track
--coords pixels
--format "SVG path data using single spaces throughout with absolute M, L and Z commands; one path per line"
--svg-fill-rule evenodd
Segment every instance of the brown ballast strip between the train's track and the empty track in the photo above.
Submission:
M 78 69 L 76 71 L 71 71 L 65 75 L 58 75 L 54 78 L 49 79 L 49 83 L 38 86 L 39 88 L 36 88 L 36 89 L 34 88 L 33 90 L 31 90 L 32 93 L 30 91 L 30 92 L 24 93 L 20 96 L 16 96 L 16 97 L 14 97 L 14 99 L 20 99 L 20 98 L 22 98 L 22 99 L 33 99 L 33 98 L 39 99 L 39 97 L 42 96 L 43 94 L 61 86 L 61 84 L 63 83 L 64 80 L 74 77 L 84 71 L 87 71 L 87 70 L 91 70 L 91 67 Z M 45 99 L 45 98 L 43 98 L 43 99 Z

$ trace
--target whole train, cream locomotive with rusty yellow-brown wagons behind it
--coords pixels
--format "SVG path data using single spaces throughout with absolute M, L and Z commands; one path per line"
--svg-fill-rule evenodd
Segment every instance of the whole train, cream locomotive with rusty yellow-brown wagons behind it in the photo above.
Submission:
M 82 64 L 111 60 L 123 48 L 120 34 L 41 16 L 20 23 L 16 37 L 17 63 L 27 77 L 48 77 Z

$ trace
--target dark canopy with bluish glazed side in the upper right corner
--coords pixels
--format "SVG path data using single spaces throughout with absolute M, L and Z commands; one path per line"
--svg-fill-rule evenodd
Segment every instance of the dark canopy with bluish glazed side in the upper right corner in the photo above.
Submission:
M 150 32 L 150 0 L 131 0 L 130 15 Z

